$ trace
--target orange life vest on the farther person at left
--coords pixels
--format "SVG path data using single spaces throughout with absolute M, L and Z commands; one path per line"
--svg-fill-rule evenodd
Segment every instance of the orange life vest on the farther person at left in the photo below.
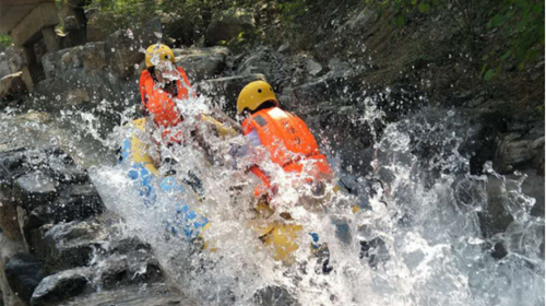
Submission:
M 190 87 L 188 76 L 181 67 L 177 67 L 177 70 L 182 76 L 185 84 L 182 85 L 180 80 L 176 80 L 176 97 L 180 99 L 188 98 L 188 89 Z M 156 83 L 147 70 L 142 71 L 139 87 L 142 105 L 144 105 L 150 114 L 153 114 L 155 123 L 164 128 L 162 137 L 166 138 L 170 134 L 169 128 L 182 121 L 180 111 L 178 111 L 176 103 L 173 101 L 173 96 L 164 90 L 156 87 Z M 180 142 L 181 134 L 177 133 L 176 136 L 171 136 L 171 141 Z

